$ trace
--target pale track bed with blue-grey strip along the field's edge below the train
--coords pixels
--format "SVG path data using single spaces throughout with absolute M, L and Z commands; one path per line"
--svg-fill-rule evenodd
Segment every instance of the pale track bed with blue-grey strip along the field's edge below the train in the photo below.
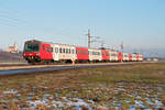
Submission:
M 9 66 L 9 67 L 0 67 L 0 75 L 18 75 L 18 74 L 31 74 L 31 73 L 43 73 L 43 72 L 56 72 L 56 70 L 65 70 L 65 69 L 76 69 L 76 68 L 87 68 L 87 67 L 102 67 L 102 66 L 120 66 L 120 65 L 134 65 L 134 64 L 143 64 L 142 63 L 101 63 L 101 64 L 76 64 L 75 66 L 67 65 L 26 65 L 26 66 Z M 150 62 L 156 63 L 156 62 Z

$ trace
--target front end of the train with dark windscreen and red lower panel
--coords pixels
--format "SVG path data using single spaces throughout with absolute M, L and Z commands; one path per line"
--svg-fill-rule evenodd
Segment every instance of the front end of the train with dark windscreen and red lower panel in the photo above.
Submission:
M 41 50 L 41 42 L 35 40 L 26 41 L 23 50 L 23 57 L 30 64 L 38 63 L 41 62 L 40 50 Z

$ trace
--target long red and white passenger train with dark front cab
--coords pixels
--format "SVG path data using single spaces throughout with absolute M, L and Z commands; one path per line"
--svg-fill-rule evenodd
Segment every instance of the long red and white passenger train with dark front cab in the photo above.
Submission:
M 23 57 L 31 64 L 54 62 L 142 62 L 143 55 L 121 53 L 105 48 L 87 48 L 74 45 L 26 41 Z

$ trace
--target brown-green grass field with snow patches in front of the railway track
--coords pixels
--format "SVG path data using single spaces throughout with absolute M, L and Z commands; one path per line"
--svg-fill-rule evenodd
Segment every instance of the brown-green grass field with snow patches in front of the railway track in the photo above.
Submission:
M 163 108 L 165 63 L 1 76 L 0 96 L 2 108 L 16 109 L 32 107 L 45 108 L 44 110 L 51 107 L 72 109 L 77 106 L 68 106 L 66 101 L 77 102 L 78 99 L 95 110 Z M 40 99 L 48 100 L 48 106 L 31 105 Z M 61 101 L 63 106 L 53 107 L 55 100 Z M 88 110 L 88 106 L 80 107 Z

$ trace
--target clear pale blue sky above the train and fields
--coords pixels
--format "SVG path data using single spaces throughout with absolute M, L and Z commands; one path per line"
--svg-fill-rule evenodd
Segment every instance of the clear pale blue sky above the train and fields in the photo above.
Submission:
M 88 29 L 106 46 L 165 51 L 165 0 L 0 0 L 3 50 L 32 38 L 86 46 Z

